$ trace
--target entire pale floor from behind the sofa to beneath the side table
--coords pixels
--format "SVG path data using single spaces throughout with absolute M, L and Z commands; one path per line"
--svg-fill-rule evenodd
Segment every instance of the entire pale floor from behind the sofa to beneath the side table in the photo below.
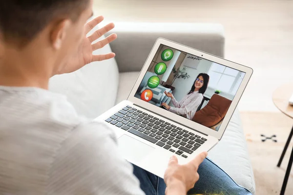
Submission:
M 239 110 L 257 194 L 279 194 L 289 152 L 280 169 L 275 165 L 293 120 L 277 111 L 272 92 L 282 83 L 293 82 L 293 0 L 95 0 L 94 11 L 114 22 L 223 24 L 225 58 L 254 70 Z M 276 134 L 278 142 L 261 142 L 260 134 Z M 286 195 L 292 194 L 291 175 Z

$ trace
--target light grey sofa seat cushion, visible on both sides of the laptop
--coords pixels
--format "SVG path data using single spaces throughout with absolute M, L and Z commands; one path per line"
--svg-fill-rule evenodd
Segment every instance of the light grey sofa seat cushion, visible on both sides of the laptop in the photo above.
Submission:
M 116 103 L 126 99 L 139 72 L 120 73 Z M 209 151 L 209 158 L 221 167 L 237 184 L 255 194 L 255 183 L 246 140 L 238 109 L 220 142 Z

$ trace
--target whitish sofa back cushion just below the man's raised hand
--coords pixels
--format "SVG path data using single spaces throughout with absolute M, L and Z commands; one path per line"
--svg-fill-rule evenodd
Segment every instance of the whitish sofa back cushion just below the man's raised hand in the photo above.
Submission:
M 106 45 L 93 54 L 110 52 L 110 46 Z M 108 59 L 92 62 L 73 73 L 52 77 L 49 90 L 67 96 L 79 115 L 94 119 L 115 105 L 118 80 L 116 61 Z

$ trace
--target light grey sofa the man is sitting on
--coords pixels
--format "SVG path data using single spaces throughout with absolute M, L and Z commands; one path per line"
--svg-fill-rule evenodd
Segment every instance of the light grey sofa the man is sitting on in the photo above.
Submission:
M 118 35 L 95 54 L 116 53 L 115 59 L 91 63 L 71 74 L 55 76 L 50 90 L 62 93 L 84 117 L 96 118 L 127 98 L 157 38 L 179 42 L 224 57 L 224 29 L 220 24 L 115 23 Z M 239 185 L 255 194 L 254 177 L 236 109 L 223 138 L 210 152 L 216 164 Z

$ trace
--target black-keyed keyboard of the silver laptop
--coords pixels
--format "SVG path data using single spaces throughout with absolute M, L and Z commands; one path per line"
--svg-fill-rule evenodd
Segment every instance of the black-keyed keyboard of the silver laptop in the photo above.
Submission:
M 207 141 L 131 106 L 126 106 L 105 121 L 185 158 Z

